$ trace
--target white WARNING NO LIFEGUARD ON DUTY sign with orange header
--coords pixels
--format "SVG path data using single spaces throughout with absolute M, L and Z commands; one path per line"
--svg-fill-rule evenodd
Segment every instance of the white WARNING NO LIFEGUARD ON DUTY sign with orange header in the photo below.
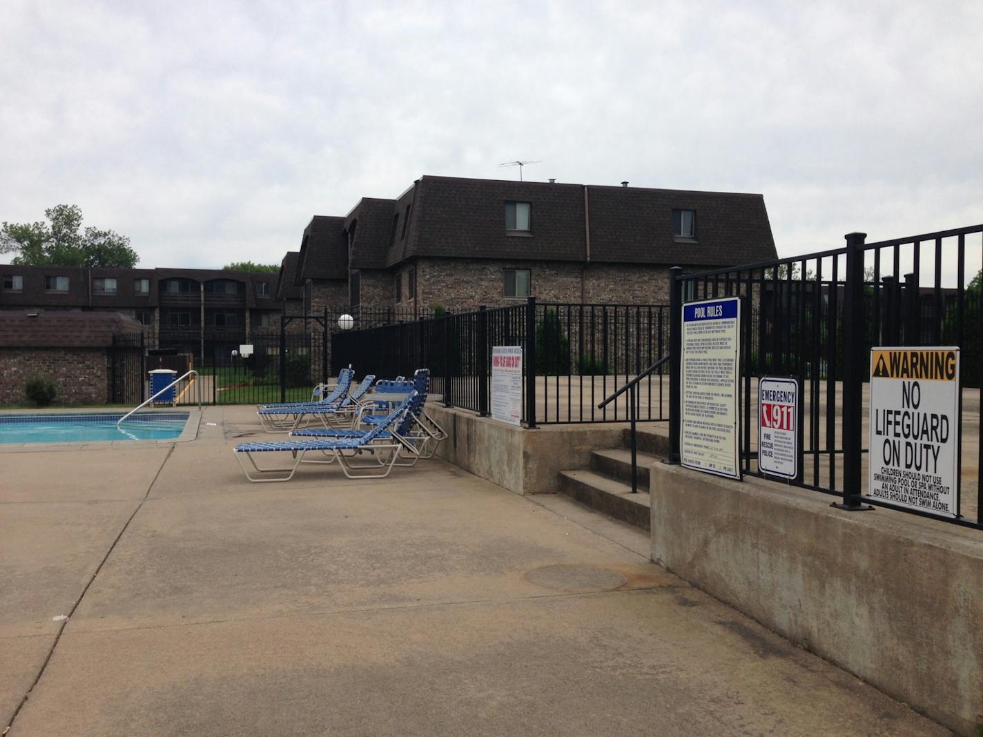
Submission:
M 958 348 L 871 350 L 870 496 L 955 517 L 958 400 Z

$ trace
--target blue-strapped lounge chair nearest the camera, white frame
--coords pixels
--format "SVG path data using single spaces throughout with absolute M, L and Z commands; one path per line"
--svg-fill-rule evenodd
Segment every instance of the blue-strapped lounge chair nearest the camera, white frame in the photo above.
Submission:
M 359 433 L 357 437 L 324 439 L 302 438 L 292 435 L 286 440 L 240 443 L 233 448 L 233 452 L 236 454 L 236 460 L 246 478 L 254 483 L 290 481 L 294 477 L 297 467 L 304 461 L 304 456 L 312 451 L 331 456 L 330 460 L 319 461 L 319 463 L 338 461 L 345 476 L 349 479 L 384 479 L 392 470 L 392 466 L 399 456 L 399 449 L 403 447 L 402 443 L 392 437 L 390 430 L 403 419 L 414 399 L 416 399 L 416 392 L 412 392 L 396 409 L 390 412 L 386 416 L 385 422 Z M 383 436 L 383 433 L 386 435 Z M 277 452 L 290 453 L 294 459 L 293 464 L 263 469 L 257 465 L 256 459 L 253 457 L 255 453 Z M 361 465 L 352 462 L 353 458 L 365 453 L 376 459 L 376 462 Z M 253 472 L 256 474 L 255 477 L 250 474 L 250 470 L 243 462 L 243 457 L 249 460 Z M 366 469 L 376 473 L 362 473 Z M 359 473 L 353 473 L 356 471 Z

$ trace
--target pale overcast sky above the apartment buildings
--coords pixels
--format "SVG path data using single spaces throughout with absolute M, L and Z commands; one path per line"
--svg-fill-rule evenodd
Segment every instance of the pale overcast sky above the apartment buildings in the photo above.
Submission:
M 762 193 L 781 255 L 983 222 L 983 2 L 0 2 L 0 220 L 278 262 L 423 174 Z

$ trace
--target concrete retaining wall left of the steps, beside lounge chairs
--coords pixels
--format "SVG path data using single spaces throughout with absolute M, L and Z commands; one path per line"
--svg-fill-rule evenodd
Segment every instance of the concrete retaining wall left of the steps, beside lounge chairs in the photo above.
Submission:
M 517 494 L 556 490 L 560 471 L 586 469 L 591 451 L 621 445 L 623 425 L 549 425 L 526 429 L 435 403 L 427 412 L 450 437 L 437 456 Z

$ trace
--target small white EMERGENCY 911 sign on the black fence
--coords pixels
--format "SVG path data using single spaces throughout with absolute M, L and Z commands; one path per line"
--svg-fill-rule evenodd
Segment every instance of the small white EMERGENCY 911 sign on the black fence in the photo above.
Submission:
M 802 416 L 798 379 L 762 376 L 758 382 L 758 470 L 794 481 L 801 471 Z

